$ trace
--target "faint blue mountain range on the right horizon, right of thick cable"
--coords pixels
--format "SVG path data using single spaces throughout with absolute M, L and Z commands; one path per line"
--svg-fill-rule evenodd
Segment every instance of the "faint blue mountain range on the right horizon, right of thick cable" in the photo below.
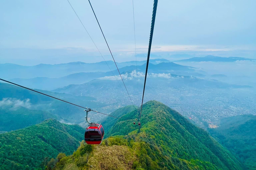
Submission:
M 243 58 L 243 57 L 218 57 L 213 55 L 207 55 L 205 57 L 193 57 L 189 59 L 176 60 L 173 62 L 202 62 L 202 61 L 212 61 L 212 62 L 234 62 L 238 60 L 256 61 L 256 59 Z

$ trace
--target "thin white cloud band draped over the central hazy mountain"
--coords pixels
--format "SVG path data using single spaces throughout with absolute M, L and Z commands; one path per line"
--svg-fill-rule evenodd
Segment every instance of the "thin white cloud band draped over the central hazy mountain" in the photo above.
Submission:
M 139 78 L 144 78 L 145 74 L 142 72 L 137 72 L 137 74 L 136 74 L 136 70 L 133 70 L 131 73 L 121 74 L 121 76 L 124 80 L 134 80 L 138 76 L 138 80 L 139 80 Z M 165 78 L 165 79 L 184 78 L 183 76 L 172 76 L 170 73 L 149 73 L 147 76 L 153 77 L 153 78 Z M 116 79 L 121 80 L 121 77 L 120 76 L 105 76 L 105 77 L 101 77 L 99 79 L 101 79 L 101 80 L 116 80 Z

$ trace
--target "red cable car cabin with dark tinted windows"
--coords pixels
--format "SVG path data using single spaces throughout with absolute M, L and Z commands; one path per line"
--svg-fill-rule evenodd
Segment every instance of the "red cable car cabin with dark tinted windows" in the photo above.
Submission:
M 87 144 L 101 144 L 104 136 L 104 129 L 101 124 L 89 125 L 84 133 L 84 140 Z

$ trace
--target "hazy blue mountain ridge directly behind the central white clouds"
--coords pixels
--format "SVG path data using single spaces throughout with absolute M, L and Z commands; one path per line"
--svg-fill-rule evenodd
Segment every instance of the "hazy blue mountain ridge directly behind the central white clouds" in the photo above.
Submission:
M 153 60 L 153 61 L 156 62 L 156 60 Z M 145 67 L 146 67 L 146 64 L 138 65 L 137 66 L 138 72 L 144 73 Z M 149 63 L 148 73 L 171 73 L 176 75 L 196 76 L 196 77 L 205 76 L 204 75 L 205 72 L 197 71 L 193 68 L 194 67 L 183 66 L 183 65 L 175 64 L 173 62 L 160 62 L 159 64 Z M 119 68 L 119 71 L 122 74 L 125 74 L 127 72 L 130 73 L 134 70 L 136 70 L 136 65 Z M 112 72 L 114 73 L 114 75 L 119 76 L 117 69 L 113 70 Z M 87 72 L 87 73 L 80 72 L 80 73 L 74 73 L 74 74 L 70 74 L 60 78 L 48 78 L 48 77 L 36 77 L 31 79 L 14 78 L 14 79 L 10 79 L 10 81 L 17 84 L 21 84 L 29 88 L 54 90 L 70 84 L 83 84 L 97 78 L 101 78 L 105 76 L 113 76 L 112 72 L 111 71 Z

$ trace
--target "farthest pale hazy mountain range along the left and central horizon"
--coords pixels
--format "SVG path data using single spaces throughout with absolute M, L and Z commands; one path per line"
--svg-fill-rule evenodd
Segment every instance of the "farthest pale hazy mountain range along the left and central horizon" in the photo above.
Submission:
M 107 62 L 107 64 L 106 64 Z M 0 64 L 0 77 L 3 79 L 12 78 L 35 78 L 35 77 L 48 77 L 59 78 L 67 76 L 69 74 L 79 72 L 108 72 L 109 67 L 111 70 L 115 70 L 116 66 L 113 61 L 101 61 L 96 63 L 85 62 L 70 62 L 63 64 L 38 64 L 35 66 L 22 66 L 17 64 Z M 170 62 L 166 59 L 152 59 L 150 63 L 158 64 L 160 62 Z M 137 61 L 137 65 L 142 65 L 146 61 Z M 136 61 L 117 63 L 119 68 L 136 65 Z M 109 67 L 108 67 L 109 66 Z

